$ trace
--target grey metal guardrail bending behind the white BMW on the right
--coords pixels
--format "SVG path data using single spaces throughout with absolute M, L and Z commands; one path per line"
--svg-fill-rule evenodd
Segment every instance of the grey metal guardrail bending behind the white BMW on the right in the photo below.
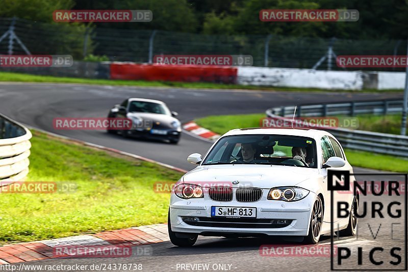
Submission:
M 294 106 L 271 108 L 266 110 L 266 115 L 271 118 L 293 116 L 294 109 Z M 353 116 L 362 113 L 387 114 L 398 113 L 401 111 L 401 100 L 388 100 L 325 105 L 301 105 L 297 106 L 296 116 Z M 333 134 L 345 148 L 408 158 L 408 136 L 344 128 L 329 128 L 324 130 Z

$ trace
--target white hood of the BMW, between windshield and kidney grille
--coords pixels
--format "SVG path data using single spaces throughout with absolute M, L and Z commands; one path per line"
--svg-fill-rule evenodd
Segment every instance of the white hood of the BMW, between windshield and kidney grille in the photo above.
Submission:
M 202 165 L 184 175 L 182 182 L 203 187 L 232 186 L 270 189 L 317 178 L 316 168 L 280 165 Z

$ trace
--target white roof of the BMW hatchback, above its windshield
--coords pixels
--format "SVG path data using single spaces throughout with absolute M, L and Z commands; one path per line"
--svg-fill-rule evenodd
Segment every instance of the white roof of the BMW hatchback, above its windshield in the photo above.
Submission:
M 322 136 L 328 135 L 334 137 L 324 130 L 314 129 L 274 129 L 274 128 L 245 128 L 230 130 L 222 136 L 232 135 L 255 135 L 255 134 L 274 134 L 274 135 L 289 135 L 289 136 L 303 136 L 314 139 L 320 139 Z

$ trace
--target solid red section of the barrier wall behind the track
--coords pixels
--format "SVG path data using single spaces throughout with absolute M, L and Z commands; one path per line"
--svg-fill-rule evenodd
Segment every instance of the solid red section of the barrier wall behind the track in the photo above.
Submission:
M 111 79 L 235 84 L 237 68 L 227 66 L 112 63 Z

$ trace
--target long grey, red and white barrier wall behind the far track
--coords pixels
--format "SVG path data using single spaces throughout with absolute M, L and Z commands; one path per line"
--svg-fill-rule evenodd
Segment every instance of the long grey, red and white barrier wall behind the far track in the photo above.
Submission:
M 31 73 L 34 75 L 47 75 L 58 77 L 76 77 L 76 78 L 92 78 L 92 79 L 121 79 L 126 76 L 118 74 L 116 70 L 112 77 L 113 66 L 123 66 L 123 63 L 110 62 L 82 62 L 74 61 L 71 67 L 0 67 L 0 71 Z M 133 65 L 137 67 L 153 66 L 148 64 L 127 63 L 127 66 Z M 125 65 L 124 65 L 125 66 Z M 151 67 L 150 67 L 151 66 Z M 167 65 L 168 66 L 168 65 Z M 180 67 L 175 65 L 175 68 L 188 69 L 189 67 Z M 166 68 L 166 67 L 159 67 Z M 217 68 L 217 69 L 216 69 Z M 234 70 L 234 76 L 228 74 L 225 77 L 224 71 Z M 120 69 L 119 69 L 120 70 Z M 146 70 L 146 69 L 144 69 Z M 147 70 L 149 72 L 147 72 Z M 276 87 L 294 87 L 294 88 L 322 88 L 331 90 L 361 90 L 361 89 L 403 89 L 405 84 L 404 72 L 362 72 L 362 71 L 322 71 L 312 69 L 293 69 L 293 68 L 269 68 L 269 67 L 214 67 L 201 66 L 199 70 L 200 76 L 195 75 L 194 78 L 173 77 L 174 72 L 170 67 L 171 77 L 166 76 L 160 69 L 147 69 L 145 72 L 139 70 L 132 73 L 132 79 L 137 80 L 167 80 L 167 81 L 210 81 L 211 79 L 227 78 L 228 80 L 215 80 L 216 82 L 237 83 L 242 85 L 255 86 L 276 86 Z M 153 72 L 154 70 L 154 72 Z M 128 72 L 127 72 L 128 73 Z M 155 75 L 153 75 L 155 73 Z M 219 73 L 219 74 L 218 74 Z M 184 75 L 184 73 L 183 73 Z M 202 75 L 202 76 L 201 76 Z M 209 77 L 209 75 L 211 77 Z M 129 76 L 129 75 L 127 75 Z M 153 77 L 154 76 L 154 77 Z M 127 78 L 126 78 L 127 79 Z M 194 79 L 194 80 L 192 80 Z M 209 80 L 210 79 L 210 80 Z

